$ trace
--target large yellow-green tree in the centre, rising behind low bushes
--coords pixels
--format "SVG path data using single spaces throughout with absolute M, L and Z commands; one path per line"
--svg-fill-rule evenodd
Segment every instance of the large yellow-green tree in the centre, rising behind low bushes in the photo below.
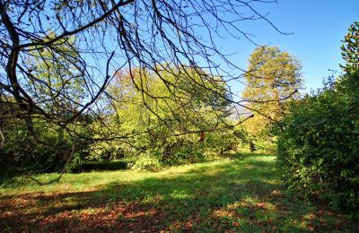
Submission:
M 171 70 L 176 74 L 161 72 L 167 84 L 147 70 L 133 70 L 134 80 L 129 72 L 118 73 L 116 81 L 109 88 L 117 104 L 113 111 L 106 112 L 107 129 L 113 137 L 109 142 L 94 144 L 93 148 L 98 154 L 108 156 L 112 147 L 116 156 L 116 153 L 123 151 L 118 151 L 118 145 L 122 144 L 120 147 L 127 148 L 127 151 L 157 149 L 163 157 L 169 157 L 171 151 L 183 147 L 185 143 L 194 148 L 201 144 L 194 142 L 205 141 L 213 129 L 226 128 L 226 118 L 231 114 L 230 101 L 217 98 L 225 96 L 228 91 L 224 83 L 221 88 L 208 81 L 194 85 L 186 80 L 179 81 L 178 76 L 191 73 L 191 77 L 200 82 L 195 71 L 176 67 Z M 221 78 L 215 80 L 220 82 Z M 182 89 L 194 91 L 188 95 Z M 93 126 L 101 134 L 100 125 Z M 126 135 L 127 139 L 124 140 L 121 135 Z M 193 144 L 190 146 L 188 143 Z

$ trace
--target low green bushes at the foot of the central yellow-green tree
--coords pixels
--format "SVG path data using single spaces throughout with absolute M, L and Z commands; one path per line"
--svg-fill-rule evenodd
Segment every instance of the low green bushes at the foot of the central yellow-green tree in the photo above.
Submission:
M 145 151 L 133 155 L 136 161 L 130 168 L 157 171 L 166 166 L 211 161 L 223 151 L 236 150 L 240 143 L 230 130 L 206 133 L 203 142 L 197 142 L 197 136 L 185 135 L 168 142 L 148 144 Z

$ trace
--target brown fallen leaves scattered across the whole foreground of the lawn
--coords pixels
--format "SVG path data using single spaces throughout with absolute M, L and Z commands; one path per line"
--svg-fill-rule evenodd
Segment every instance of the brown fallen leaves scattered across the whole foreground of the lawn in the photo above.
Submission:
M 283 198 L 279 191 L 274 191 L 258 202 L 241 201 L 223 207 L 207 206 L 207 216 L 200 216 L 198 212 L 183 212 L 184 215 L 177 219 L 162 204 L 154 204 L 157 200 L 155 198 L 154 203 L 135 200 L 126 202 L 118 197 L 109 198 L 109 195 L 96 190 L 2 196 L 0 229 L 11 232 L 166 232 L 176 229 L 193 231 L 198 228 L 231 231 L 247 225 L 270 232 L 283 229 L 283 218 L 289 218 L 296 211 L 293 206 L 284 203 Z M 334 226 L 327 226 L 328 218 L 332 218 L 332 223 L 335 221 Z M 344 224 L 338 216 L 324 208 L 307 212 L 305 216 L 292 216 L 292 219 L 299 220 L 302 229 L 309 231 L 333 227 L 341 229 Z

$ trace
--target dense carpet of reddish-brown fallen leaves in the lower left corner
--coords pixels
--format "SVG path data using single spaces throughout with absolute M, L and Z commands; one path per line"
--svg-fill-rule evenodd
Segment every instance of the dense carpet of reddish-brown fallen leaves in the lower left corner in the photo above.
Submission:
M 89 192 L 23 194 L 0 200 L 0 229 L 152 231 L 163 214 L 138 202 L 91 202 Z M 66 203 L 66 200 L 70 200 Z M 72 201 L 72 202 L 71 202 Z M 78 203 L 74 203 L 78 202 Z

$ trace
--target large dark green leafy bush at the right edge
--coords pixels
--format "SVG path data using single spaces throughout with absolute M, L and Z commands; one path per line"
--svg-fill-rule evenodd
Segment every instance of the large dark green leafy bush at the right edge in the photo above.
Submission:
M 343 54 L 353 48 L 343 47 Z M 294 101 L 276 125 L 278 163 L 291 188 L 358 217 L 359 69 L 350 62 L 345 67 L 337 81 L 329 79 L 323 90 Z

